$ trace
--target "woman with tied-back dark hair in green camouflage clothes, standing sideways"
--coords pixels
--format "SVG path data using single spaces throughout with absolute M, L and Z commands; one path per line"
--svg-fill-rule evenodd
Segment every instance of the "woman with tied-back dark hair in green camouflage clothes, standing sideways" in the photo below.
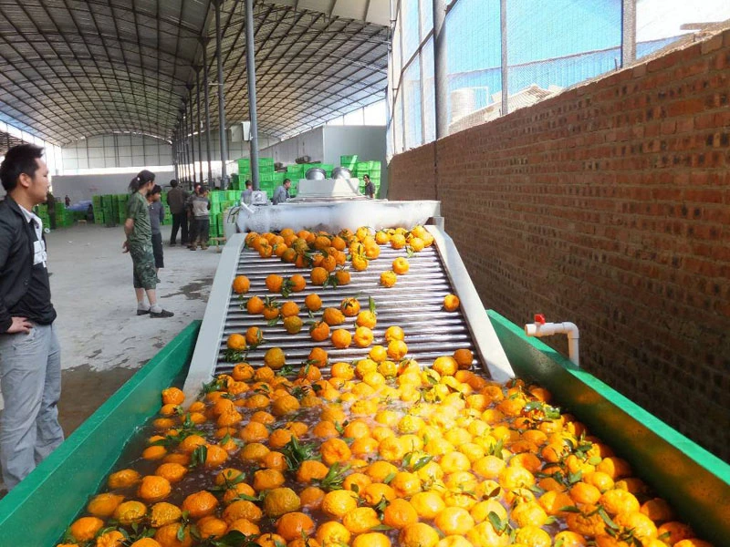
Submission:
M 152 231 L 147 192 L 154 186 L 154 173 L 141 170 L 130 182 L 132 195 L 127 201 L 127 220 L 124 233 L 127 240 L 122 245 L 125 253 L 130 253 L 133 268 L 134 292 L 137 295 L 137 315 L 150 314 L 151 317 L 172 317 L 172 312 L 163 310 L 157 304 L 157 284 L 160 280 L 154 269 L 152 254 Z M 150 304 L 144 303 L 144 295 Z

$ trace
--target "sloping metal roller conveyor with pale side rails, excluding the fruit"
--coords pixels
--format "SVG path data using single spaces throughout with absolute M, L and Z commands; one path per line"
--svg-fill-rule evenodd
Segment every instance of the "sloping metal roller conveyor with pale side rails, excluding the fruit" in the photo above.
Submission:
M 246 355 L 246 361 L 252 366 L 262 366 L 264 355 L 271 347 L 280 347 L 287 356 L 287 365 L 295 368 L 308 359 L 309 352 L 315 346 L 327 349 L 331 363 L 351 362 L 367 356 L 372 345 L 387 346 L 383 339 L 385 330 L 398 325 L 405 331 L 407 356 L 422 366 L 431 366 L 436 357 L 451 356 L 455 350 L 467 348 L 474 353 L 473 366 L 481 368 L 496 381 L 514 377 L 454 243 L 439 228 L 428 226 L 428 230 L 434 236 L 433 246 L 409 256 L 408 273 L 399 275 L 397 284 L 391 288 L 380 285 L 381 273 L 391 270 L 395 258 L 406 256 L 405 250 L 381 246 L 380 256 L 370 261 L 367 270 L 350 270 L 349 284 L 336 288 L 321 287 L 310 283 L 308 269 L 299 269 L 294 264 L 276 258 L 261 258 L 255 251 L 245 248 L 244 234 L 236 234 L 226 244 L 221 257 L 185 391 L 196 396 L 203 382 L 210 381 L 214 375 L 230 373 L 235 363 L 226 361 L 227 337 L 234 333 L 245 334 L 250 326 L 260 327 L 265 339 L 261 346 Z M 266 276 L 269 274 L 285 278 L 301 274 L 307 286 L 304 291 L 292 293 L 286 298 L 281 294 L 272 294 L 266 288 Z M 248 293 L 243 296 L 231 290 L 236 275 L 245 275 L 251 282 Z M 314 318 L 311 319 L 304 299 L 313 293 L 322 299 L 322 308 L 312 314 Z M 443 310 L 443 297 L 450 293 L 457 294 L 462 302 L 461 309 L 453 313 Z M 280 320 L 276 325 L 267 325 L 262 315 L 248 314 L 245 300 L 252 296 L 276 298 L 279 302 L 297 302 L 301 309 L 299 316 L 305 322 L 302 330 L 290 335 Z M 363 310 L 368 309 L 369 299 L 373 299 L 378 322 L 372 329 L 372 345 L 361 348 L 353 343 L 347 349 L 336 349 L 328 340 L 312 340 L 307 323 L 320 320 L 324 308 L 339 308 L 342 300 L 348 297 L 358 298 Z M 354 335 L 355 319 L 347 317 L 343 325 L 331 329 L 346 328 Z

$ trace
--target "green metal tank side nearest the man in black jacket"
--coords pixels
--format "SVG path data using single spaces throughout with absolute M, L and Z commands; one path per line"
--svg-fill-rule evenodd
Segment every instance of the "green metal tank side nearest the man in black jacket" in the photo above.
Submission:
M 0 545 L 55 545 L 193 356 L 193 321 L 0 501 Z

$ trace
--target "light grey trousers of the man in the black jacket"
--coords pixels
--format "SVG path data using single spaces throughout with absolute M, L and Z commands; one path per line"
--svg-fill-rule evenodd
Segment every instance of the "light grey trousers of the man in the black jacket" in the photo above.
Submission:
M 63 442 L 58 424 L 61 347 L 55 325 L 34 325 L 29 334 L 0 335 L 0 466 L 12 490 Z

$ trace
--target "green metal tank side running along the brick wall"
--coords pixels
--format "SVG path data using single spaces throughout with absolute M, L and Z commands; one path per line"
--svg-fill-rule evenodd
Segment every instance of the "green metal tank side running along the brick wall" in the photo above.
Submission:
M 529 337 L 493 310 L 487 315 L 518 377 L 546 387 L 558 404 L 629 461 L 695 532 L 715 545 L 730 537 L 730 466 L 661 419 Z

